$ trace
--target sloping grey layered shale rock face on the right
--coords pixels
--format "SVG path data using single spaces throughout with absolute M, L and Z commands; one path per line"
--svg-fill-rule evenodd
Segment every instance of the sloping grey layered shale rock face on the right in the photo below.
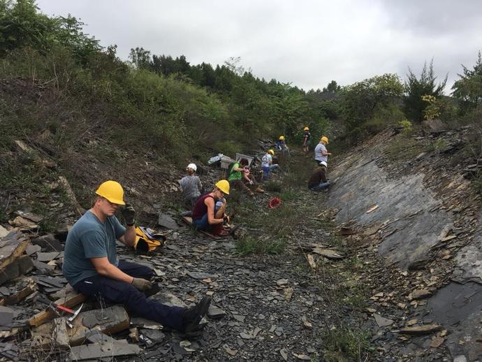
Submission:
M 329 165 L 337 182 L 327 202 L 339 210 L 337 222 L 356 224 L 384 263 L 417 275 L 416 289 L 432 289 L 409 313 L 428 313 L 449 331 L 442 340 L 453 358 L 473 361 L 482 356 L 482 314 L 474 303 L 482 298 L 482 232 L 480 195 L 467 173 L 478 160 L 462 148 L 470 132 L 372 138 Z

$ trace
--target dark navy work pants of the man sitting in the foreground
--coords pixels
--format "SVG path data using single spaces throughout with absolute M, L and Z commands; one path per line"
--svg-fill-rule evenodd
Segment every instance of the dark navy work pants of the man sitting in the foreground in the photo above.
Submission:
M 131 277 L 146 280 L 150 280 L 152 277 L 152 269 L 136 263 L 121 260 L 117 268 L 131 275 Z M 129 283 L 113 280 L 102 275 L 95 275 L 94 277 L 81 280 L 73 286 L 73 289 L 87 296 L 100 295 L 113 304 L 122 303 L 133 317 L 143 317 L 156 321 L 163 326 L 179 331 L 182 330 L 182 312 L 184 312 L 184 308 L 169 307 L 168 305 L 151 301 Z

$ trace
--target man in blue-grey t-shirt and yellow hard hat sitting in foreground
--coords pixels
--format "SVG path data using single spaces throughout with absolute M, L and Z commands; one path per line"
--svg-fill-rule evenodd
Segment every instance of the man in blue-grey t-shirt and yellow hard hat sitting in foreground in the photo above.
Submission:
M 122 226 L 115 211 L 124 205 Z M 183 333 L 196 331 L 207 314 L 211 299 L 190 307 L 173 307 L 146 298 L 152 289 L 153 270 L 117 259 L 116 240 L 132 247 L 136 240 L 136 211 L 124 202 L 119 182 L 103 182 L 96 190 L 94 205 L 68 231 L 62 273 L 68 284 L 86 296 L 101 296 L 112 304 L 124 304 L 129 314 L 156 321 Z

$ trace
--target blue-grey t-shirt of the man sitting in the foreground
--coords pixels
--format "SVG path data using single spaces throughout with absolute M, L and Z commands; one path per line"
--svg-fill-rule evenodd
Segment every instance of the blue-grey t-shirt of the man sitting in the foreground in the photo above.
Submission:
M 90 258 L 107 256 L 112 265 L 117 266 L 115 240 L 126 233 L 126 228 L 110 216 L 104 223 L 92 212 L 85 212 L 68 231 L 64 250 L 62 273 L 68 284 L 74 286 L 87 277 L 97 275 L 97 270 Z

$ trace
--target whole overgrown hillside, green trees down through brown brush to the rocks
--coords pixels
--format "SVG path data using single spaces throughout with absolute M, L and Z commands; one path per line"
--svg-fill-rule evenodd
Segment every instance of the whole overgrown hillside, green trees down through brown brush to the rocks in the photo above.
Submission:
M 473 68 L 463 67 L 451 97 L 432 63 L 420 75 L 409 70 L 405 82 L 384 74 L 306 92 L 257 78 L 238 58 L 193 65 L 182 55 L 133 48 L 123 61 L 115 45 L 101 47 L 82 26 L 72 16 L 42 14 L 34 0 L 0 0 L 0 190 L 7 196 L 45 191 L 38 189 L 45 165 L 25 163 L 13 152 L 15 140 L 48 157 L 88 204 L 85 188 L 126 179 L 126 170 L 131 180 L 143 178 L 140 164 L 174 169 L 280 134 L 294 145 L 303 126 L 315 140 L 336 136 L 330 147 L 342 150 L 386 126 L 409 132 L 435 117 L 450 126 L 481 119 L 480 54 Z M 480 150 L 474 134 L 467 152 Z

